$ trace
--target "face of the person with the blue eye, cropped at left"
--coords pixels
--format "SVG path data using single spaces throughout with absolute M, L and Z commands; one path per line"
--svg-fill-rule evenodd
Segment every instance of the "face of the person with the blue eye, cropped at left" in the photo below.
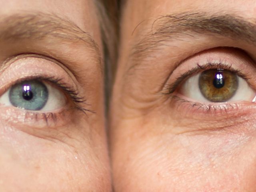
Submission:
M 0 191 L 110 191 L 95 2 L 2 0 L 0 14 Z

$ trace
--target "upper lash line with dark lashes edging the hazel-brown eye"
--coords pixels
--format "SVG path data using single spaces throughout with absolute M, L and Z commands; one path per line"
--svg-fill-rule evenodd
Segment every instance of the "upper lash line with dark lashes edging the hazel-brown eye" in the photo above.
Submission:
M 167 84 L 167 83 L 164 84 L 164 92 L 162 92 L 162 94 L 172 94 L 175 92 L 175 90 L 178 88 L 178 86 L 180 86 L 180 84 L 189 76 L 193 76 L 193 75 L 200 73 L 204 70 L 215 69 L 215 68 L 230 70 L 231 72 L 236 73 L 241 78 L 244 78 L 248 82 L 248 84 L 250 84 L 249 78 L 246 76 L 246 74 L 243 74 L 242 72 L 240 72 L 240 70 L 235 70 L 234 68 L 232 68 L 231 65 L 208 62 L 204 65 L 197 64 L 196 67 L 188 70 L 184 74 L 181 74 L 178 78 L 176 78 L 176 80 L 172 84 Z M 165 90 L 166 90 L 166 92 L 165 92 Z

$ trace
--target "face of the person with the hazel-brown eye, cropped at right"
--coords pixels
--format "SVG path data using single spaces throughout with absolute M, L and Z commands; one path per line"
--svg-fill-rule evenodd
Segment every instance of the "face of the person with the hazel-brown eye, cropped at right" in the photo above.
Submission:
M 115 191 L 256 191 L 255 9 L 126 1 L 110 119 Z

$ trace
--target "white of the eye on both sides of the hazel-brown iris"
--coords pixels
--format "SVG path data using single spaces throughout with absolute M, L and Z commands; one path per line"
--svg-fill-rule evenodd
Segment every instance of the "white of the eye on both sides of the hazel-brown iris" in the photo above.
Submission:
M 196 100 L 198 102 L 210 102 L 207 100 L 201 93 L 199 88 L 199 77 L 200 74 L 196 74 L 186 80 L 186 82 L 181 87 L 182 95 L 191 98 L 192 100 Z M 239 102 L 239 101 L 249 101 L 255 97 L 255 91 L 249 86 L 249 84 L 243 78 L 238 77 L 238 88 L 227 102 Z

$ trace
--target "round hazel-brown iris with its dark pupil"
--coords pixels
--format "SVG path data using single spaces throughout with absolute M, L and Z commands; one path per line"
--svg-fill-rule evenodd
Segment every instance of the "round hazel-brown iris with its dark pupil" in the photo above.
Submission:
M 199 77 L 200 91 L 211 102 L 226 102 L 234 96 L 237 87 L 236 74 L 228 70 L 206 70 Z

